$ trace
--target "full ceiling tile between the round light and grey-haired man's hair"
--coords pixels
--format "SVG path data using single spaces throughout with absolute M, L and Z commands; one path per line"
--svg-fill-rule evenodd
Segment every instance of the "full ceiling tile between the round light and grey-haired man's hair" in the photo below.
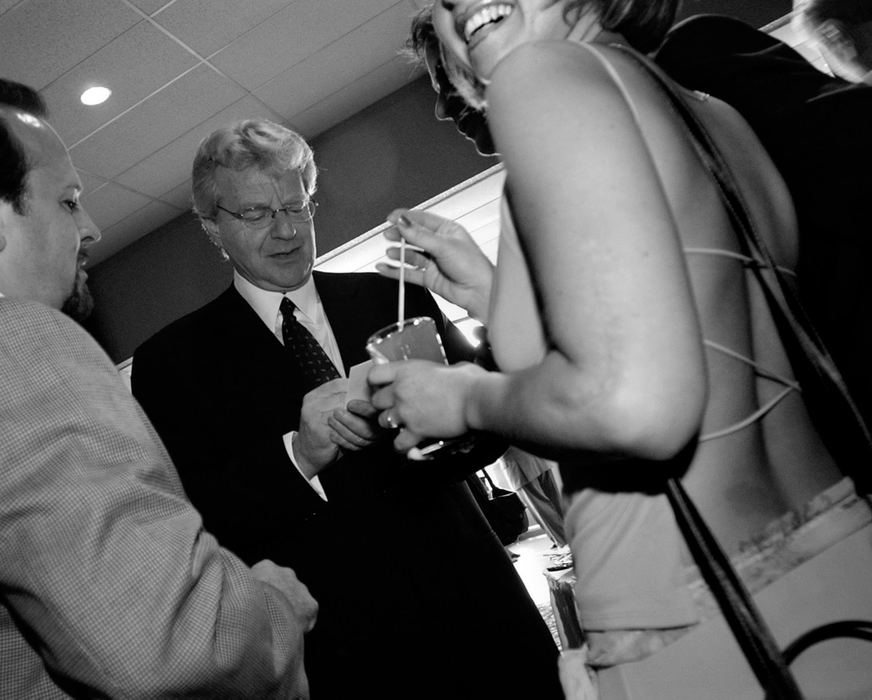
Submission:
M 73 162 L 112 179 L 245 93 L 201 64 L 70 149 Z

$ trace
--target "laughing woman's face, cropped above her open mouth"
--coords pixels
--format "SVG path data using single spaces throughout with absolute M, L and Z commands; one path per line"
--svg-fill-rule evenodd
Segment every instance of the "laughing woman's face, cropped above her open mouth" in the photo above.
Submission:
M 433 26 L 447 54 L 484 82 L 497 63 L 529 41 L 565 39 L 567 0 L 439 0 Z

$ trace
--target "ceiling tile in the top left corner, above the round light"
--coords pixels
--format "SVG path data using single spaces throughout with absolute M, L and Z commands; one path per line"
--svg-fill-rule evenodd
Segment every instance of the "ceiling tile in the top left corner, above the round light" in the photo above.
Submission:
M 3 14 L 0 66 L 39 90 L 140 20 L 118 0 L 28 0 Z

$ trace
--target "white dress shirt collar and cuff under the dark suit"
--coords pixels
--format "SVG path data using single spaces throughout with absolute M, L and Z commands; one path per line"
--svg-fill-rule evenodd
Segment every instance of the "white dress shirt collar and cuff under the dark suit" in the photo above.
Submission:
M 297 307 L 294 310 L 294 317 L 308 330 L 318 341 L 318 344 L 324 348 L 327 357 L 336 365 L 339 376 L 345 376 L 344 365 L 342 364 L 342 356 L 339 353 L 339 346 L 336 344 L 336 338 L 333 336 L 333 329 L 330 328 L 330 322 L 327 320 L 327 315 L 324 313 L 324 306 L 321 304 L 321 298 L 318 296 L 318 290 L 315 289 L 315 282 L 311 276 L 299 289 L 294 289 L 290 292 L 270 292 L 266 289 L 261 289 L 253 285 L 242 275 L 235 270 L 233 271 L 233 286 L 236 291 L 242 295 L 242 298 L 248 302 L 249 306 L 257 314 L 258 318 L 264 322 L 270 332 L 275 335 L 280 343 L 284 343 L 282 338 L 282 314 L 279 311 L 279 306 L 282 299 L 287 297 Z M 285 443 L 285 449 L 288 452 L 293 465 L 300 471 L 297 460 L 294 457 L 293 440 L 297 434 L 296 430 L 285 433 L 282 439 Z M 306 478 L 305 474 L 300 471 L 300 475 Z M 324 493 L 324 488 L 321 486 L 321 481 L 315 475 L 311 479 L 306 479 L 313 489 L 325 501 L 327 496 Z

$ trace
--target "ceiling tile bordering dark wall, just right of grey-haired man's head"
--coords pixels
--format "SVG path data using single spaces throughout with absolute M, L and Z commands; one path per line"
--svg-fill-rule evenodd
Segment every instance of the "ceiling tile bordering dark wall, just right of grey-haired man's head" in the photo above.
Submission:
M 291 115 L 288 120 L 307 139 L 335 126 L 355 112 L 368 107 L 376 100 L 399 90 L 420 75 L 420 69 L 412 69 L 409 62 L 396 56 L 376 70 L 357 81 L 337 90 L 313 107 Z

